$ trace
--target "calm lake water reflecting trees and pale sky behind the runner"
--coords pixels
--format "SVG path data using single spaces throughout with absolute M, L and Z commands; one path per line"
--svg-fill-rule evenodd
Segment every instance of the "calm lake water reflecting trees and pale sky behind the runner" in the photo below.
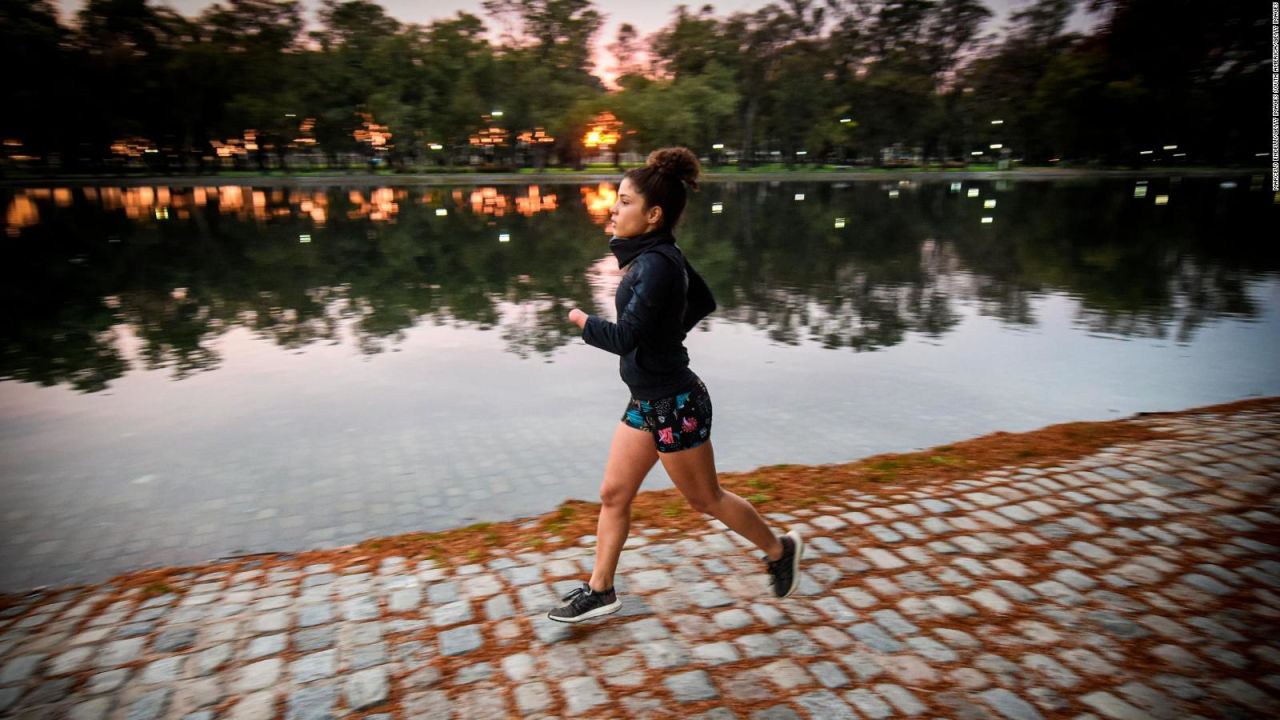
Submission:
M 0 188 L 0 589 L 594 498 L 627 393 L 566 315 L 613 318 L 613 188 Z M 1248 173 L 707 184 L 719 466 L 1280 395 L 1276 213 Z

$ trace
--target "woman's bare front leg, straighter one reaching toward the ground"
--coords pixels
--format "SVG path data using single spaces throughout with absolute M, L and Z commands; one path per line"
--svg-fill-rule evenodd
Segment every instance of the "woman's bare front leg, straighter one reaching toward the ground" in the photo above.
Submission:
M 609 446 L 609 460 L 604 465 L 604 482 L 600 484 L 600 519 L 595 529 L 595 568 L 591 570 L 594 591 L 613 587 L 613 573 L 618 569 L 622 543 L 631 530 L 631 501 L 657 461 L 658 448 L 653 434 L 618 423 Z

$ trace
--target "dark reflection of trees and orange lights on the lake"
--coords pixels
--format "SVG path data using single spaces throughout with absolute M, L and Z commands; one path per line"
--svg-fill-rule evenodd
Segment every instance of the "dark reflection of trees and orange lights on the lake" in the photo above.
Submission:
M 1044 293 L 1078 299 L 1088 332 L 1185 343 L 1217 318 L 1256 316 L 1247 282 L 1280 265 L 1251 236 L 1272 219 L 1270 195 L 1239 186 L 712 184 L 678 236 L 718 316 L 777 343 L 942 338 L 960 304 L 1033 327 Z M 236 327 L 366 354 L 417 323 L 475 327 L 553 359 L 577 337 L 570 307 L 612 313 L 614 197 L 613 183 L 5 191 L 0 378 L 84 392 L 132 366 L 180 379 L 216 368 L 215 340 Z

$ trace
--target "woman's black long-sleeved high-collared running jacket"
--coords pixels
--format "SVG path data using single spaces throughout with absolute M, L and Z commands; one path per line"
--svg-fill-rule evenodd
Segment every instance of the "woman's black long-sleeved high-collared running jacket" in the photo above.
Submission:
M 582 340 L 620 359 L 620 374 L 636 400 L 659 400 L 689 389 L 685 334 L 716 309 L 710 290 L 668 231 L 609 241 L 626 270 L 614 302 L 618 322 L 586 319 Z

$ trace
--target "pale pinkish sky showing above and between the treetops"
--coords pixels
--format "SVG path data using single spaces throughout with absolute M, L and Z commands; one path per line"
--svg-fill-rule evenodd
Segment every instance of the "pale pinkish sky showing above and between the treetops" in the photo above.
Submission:
M 387 14 L 403 22 L 403 23 L 419 23 L 428 24 L 431 20 L 440 18 L 451 18 L 458 13 L 458 10 L 466 10 L 474 15 L 480 17 L 485 20 L 485 24 L 490 29 L 497 29 L 494 23 L 488 15 L 485 15 L 484 6 L 480 0 L 375 0 L 379 5 L 387 10 Z M 663 26 L 671 22 L 675 9 L 678 5 L 686 5 L 691 12 L 696 12 L 705 4 L 710 4 L 716 9 L 717 17 L 727 17 L 739 10 L 756 10 L 769 4 L 771 0 L 716 0 L 712 3 L 699 3 L 699 1 L 685 1 L 685 3 L 671 3 L 660 0 L 595 0 L 595 9 L 604 15 L 604 26 L 600 28 L 599 35 L 595 37 L 595 55 L 596 63 L 605 63 L 608 65 L 608 59 L 605 58 L 605 47 L 613 42 L 613 38 L 618 35 L 618 27 L 622 23 L 631 23 L 640 31 L 641 36 L 646 36 L 652 32 L 658 31 Z M 777 1 L 777 0 L 772 0 Z M 1029 4 L 1030 0 L 983 0 L 987 8 L 992 12 L 992 19 L 987 22 L 983 28 L 987 32 L 997 29 L 1009 15 L 1010 8 L 1018 8 Z M 63 14 L 64 20 L 74 15 L 84 5 L 83 0 L 54 0 L 55 5 Z M 186 17 L 198 15 L 205 8 L 212 5 L 210 0 L 151 0 L 155 5 L 168 5 L 178 13 Z M 302 6 L 306 8 L 307 20 L 311 23 L 317 22 L 316 10 L 320 8 L 320 0 L 302 0 Z M 780 3 L 781 4 L 781 3 Z M 1082 5 L 1084 3 L 1080 3 Z M 1070 29 L 1083 31 L 1088 28 L 1092 23 L 1089 22 L 1088 14 L 1083 10 L 1076 10 L 1071 22 L 1068 23 Z M 612 77 L 612 68 L 596 68 L 599 74 L 605 77 Z

